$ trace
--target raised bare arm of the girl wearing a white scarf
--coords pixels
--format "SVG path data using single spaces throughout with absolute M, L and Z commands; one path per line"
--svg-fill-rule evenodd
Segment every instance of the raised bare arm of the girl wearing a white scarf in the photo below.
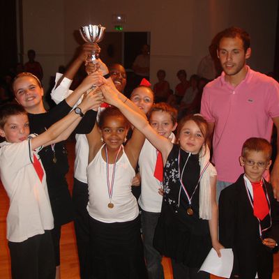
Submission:
M 140 130 L 141 133 L 156 147 L 160 150 L 163 156 L 163 162 L 167 161 L 167 156 L 172 150 L 172 143 L 169 142 L 165 137 L 158 135 L 155 130 L 149 125 L 146 117 L 142 115 L 142 112 L 139 113 L 139 108 L 135 106 L 128 98 L 121 95 L 116 89 L 112 89 L 110 86 L 104 84 L 100 86 L 102 90 L 105 101 L 118 107 L 119 110 L 126 116 L 128 121 Z

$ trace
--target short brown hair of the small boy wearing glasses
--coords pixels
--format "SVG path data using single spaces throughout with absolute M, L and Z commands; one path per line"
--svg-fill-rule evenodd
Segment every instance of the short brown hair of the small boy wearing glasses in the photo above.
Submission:
M 263 152 L 267 159 L 270 160 L 272 146 L 267 140 L 261 137 L 250 137 L 242 146 L 241 156 L 246 157 L 248 151 Z

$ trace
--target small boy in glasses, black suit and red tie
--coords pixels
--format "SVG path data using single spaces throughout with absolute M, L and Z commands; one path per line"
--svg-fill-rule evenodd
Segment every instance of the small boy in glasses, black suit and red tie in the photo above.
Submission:
M 279 236 L 273 223 L 279 204 L 263 174 L 271 165 L 271 144 L 259 137 L 244 142 L 240 163 L 244 174 L 221 191 L 220 242 L 234 252 L 232 277 L 271 279 L 273 250 Z M 271 227 L 271 224 L 272 227 Z

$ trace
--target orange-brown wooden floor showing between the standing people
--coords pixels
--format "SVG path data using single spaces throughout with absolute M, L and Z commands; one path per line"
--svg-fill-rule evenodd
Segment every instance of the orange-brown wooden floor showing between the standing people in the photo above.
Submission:
M 73 161 L 75 150 L 73 142 L 68 142 L 68 154 L 70 162 L 70 172 L 68 172 L 68 183 L 73 185 Z M 10 257 L 6 241 L 6 216 L 8 212 L 8 197 L 3 186 L 0 183 L 0 279 L 10 279 Z M 274 258 L 275 268 L 273 279 L 279 279 L 279 254 Z M 165 271 L 165 279 L 172 279 L 172 266 L 169 259 L 163 258 L 163 266 Z M 64 225 L 61 234 L 61 278 L 62 279 L 78 279 L 79 264 L 77 259 L 77 246 L 75 242 L 75 233 L 73 223 Z M 211 276 L 211 279 L 217 279 Z

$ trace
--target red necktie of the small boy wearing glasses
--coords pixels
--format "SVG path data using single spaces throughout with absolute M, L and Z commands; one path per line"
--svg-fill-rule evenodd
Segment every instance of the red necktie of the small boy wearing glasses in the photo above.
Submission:
M 266 195 L 262 188 L 262 181 L 251 183 L 254 198 L 254 215 L 259 218 L 259 220 L 264 220 L 264 217 L 269 214 L 269 204 L 267 204 Z

